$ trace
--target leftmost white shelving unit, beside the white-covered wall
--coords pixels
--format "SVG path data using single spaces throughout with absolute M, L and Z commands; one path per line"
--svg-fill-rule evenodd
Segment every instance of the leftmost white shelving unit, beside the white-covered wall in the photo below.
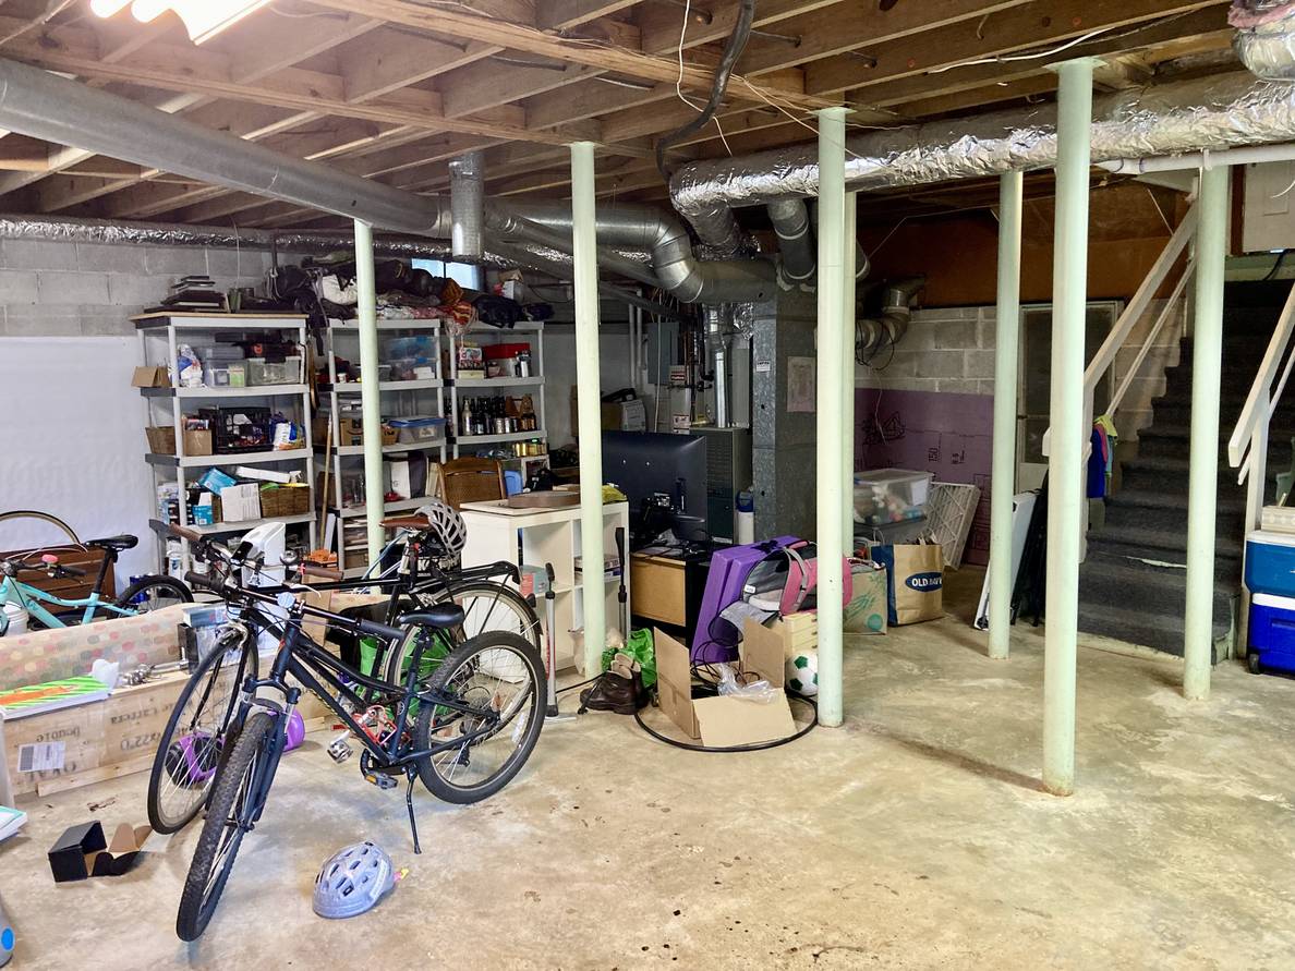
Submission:
M 290 339 L 306 346 L 306 317 L 294 313 L 145 313 L 131 318 L 135 322 L 140 339 L 140 355 L 142 363 L 150 366 L 164 366 L 175 381 L 177 351 L 180 344 L 198 344 L 214 340 L 216 334 L 231 331 L 281 331 L 289 334 Z M 315 453 L 311 448 L 311 401 L 308 386 L 299 381 L 293 385 L 259 385 L 251 387 L 146 387 L 140 388 L 144 400 L 145 425 L 172 425 L 175 429 L 176 454 L 158 454 L 148 452 L 144 461 L 153 471 L 154 495 L 153 504 L 157 504 L 157 486 L 166 482 L 176 482 L 180 489 L 180 524 L 203 536 L 219 536 L 229 533 L 242 533 L 269 522 L 278 522 L 286 526 L 304 526 L 307 548 L 316 545 L 315 531 Z M 234 452 L 210 456 L 186 456 L 184 453 L 184 417 L 197 410 L 198 404 L 218 404 L 229 407 L 231 403 L 242 401 L 249 405 L 263 405 L 276 410 L 291 410 L 293 421 L 304 430 L 304 447 L 291 451 L 269 452 Z M 192 476 L 190 469 L 233 469 L 234 466 L 259 466 L 297 463 L 300 466 L 306 486 L 311 491 L 308 509 L 311 511 L 299 515 L 272 517 L 265 519 L 253 519 L 237 523 L 215 523 L 211 526 L 196 526 L 189 522 L 188 492 Z M 166 544 L 170 539 L 166 533 L 166 523 L 162 520 L 162 511 L 149 520 L 149 526 L 157 536 L 158 561 L 162 568 L 166 567 Z M 181 541 L 183 566 L 185 570 L 193 567 L 189 553 L 189 544 Z

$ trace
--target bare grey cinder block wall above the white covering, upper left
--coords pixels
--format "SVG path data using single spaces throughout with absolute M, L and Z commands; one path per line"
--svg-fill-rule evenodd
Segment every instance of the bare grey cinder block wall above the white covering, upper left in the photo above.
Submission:
M 220 290 L 259 286 L 260 250 L 0 241 L 0 337 L 133 334 L 131 315 L 155 306 L 179 277 L 206 274 Z

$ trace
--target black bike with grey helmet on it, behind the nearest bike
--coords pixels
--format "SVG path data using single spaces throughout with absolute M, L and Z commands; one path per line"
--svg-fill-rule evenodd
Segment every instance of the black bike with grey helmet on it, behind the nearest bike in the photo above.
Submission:
M 311 564 L 300 564 L 302 581 L 315 590 L 378 590 L 388 596 L 386 605 L 342 611 L 355 620 L 364 618 L 394 625 L 403 614 L 417 612 L 442 603 L 462 608 L 464 620 L 452 631 L 436 634 L 438 643 L 425 650 L 426 667 L 456 643 L 477 634 L 491 632 L 514 633 L 540 650 L 539 618 L 535 608 L 509 581 L 517 581 L 517 567 L 495 563 L 445 574 L 435 563 L 438 550 L 426 533 L 426 520 L 403 518 L 386 520 L 383 526 L 405 532 L 405 548 L 399 570 L 382 580 L 342 580 L 335 571 Z M 194 555 L 211 563 L 216 571 L 250 568 L 259 564 L 250 559 L 250 548 L 233 550 L 210 540 L 203 540 L 183 527 L 171 527 L 177 536 L 193 544 Z M 211 577 L 208 577 L 210 580 Z M 324 580 L 320 583 L 319 580 Z M 277 594 L 285 588 L 259 588 L 260 593 Z M 282 637 L 282 619 L 254 606 L 231 611 L 231 620 L 220 629 L 214 647 L 206 653 L 181 689 L 167 726 L 158 742 L 149 774 L 149 823 L 157 832 L 176 832 L 198 814 L 207 801 L 215 779 L 220 752 L 232 742 L 229 724 L 236 711 L 238 689 L 251 676 L 258 676 L 259 658 L 256 641 L 262 631 L 272 631 Z M 322 627 L 319 628 L 324 633 Z M 369 638 L 377 645 L 373 656 L 365 658 L 360 637 L 350 627 L 333 625 L 328 637 L 342 643 L 342 659 L 360 667 L 365 675 L 377 675 L 387 681 L 400 682 L 411 663 L 414 638 L 405 638 L 388 650 L 379 638 Z M 322 638 L 321 638 L 322 640 Z

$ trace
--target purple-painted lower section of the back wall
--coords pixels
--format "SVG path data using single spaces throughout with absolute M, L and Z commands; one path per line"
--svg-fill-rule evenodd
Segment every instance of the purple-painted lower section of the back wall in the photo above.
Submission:
M 860 388 L 855 404 L 855 471 L 913 469 L 979 486 L 965 561 L 988 563 L 993 397 Z

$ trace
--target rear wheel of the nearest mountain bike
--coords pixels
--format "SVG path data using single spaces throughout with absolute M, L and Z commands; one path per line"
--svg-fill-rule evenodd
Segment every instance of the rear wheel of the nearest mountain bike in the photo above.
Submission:
M 495 795 L 521 772 L 544 726 L 544 662 L 524 638 L 484 633 L 456 647 L 431 673 L 425 691 L 470 706 L 465 713 L 445 704 L 420 706 L 414 748 L 452 743 L 478 731 L 487 734 L 448 746 L 421 759 L 418 777 L 447 803 L 477 803 Z

